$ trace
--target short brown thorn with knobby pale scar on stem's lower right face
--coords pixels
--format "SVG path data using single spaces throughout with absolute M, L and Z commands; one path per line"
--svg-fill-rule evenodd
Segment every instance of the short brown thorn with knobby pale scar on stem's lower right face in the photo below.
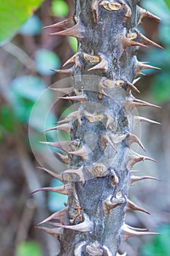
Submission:
M 115 198 L 112 197 L 112 195 L 109 195 L 109 197 L 107 197 L 107 199 L 103 201 L 105 214 L 108 215 L 111 209 L 116 208 L 117 206 L 120 206 L 123 203 L 125 203 L 125 198 Z

